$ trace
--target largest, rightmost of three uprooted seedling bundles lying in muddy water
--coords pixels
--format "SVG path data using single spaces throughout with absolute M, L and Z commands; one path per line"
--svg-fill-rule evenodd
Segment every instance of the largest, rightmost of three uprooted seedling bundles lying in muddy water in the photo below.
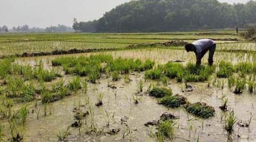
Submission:
M 214 116 L 215 110 L 212 106 L 208 106 L 206 103 L 197 102 L 188 105 L 187 111 L 199 118 L 210 118 Z

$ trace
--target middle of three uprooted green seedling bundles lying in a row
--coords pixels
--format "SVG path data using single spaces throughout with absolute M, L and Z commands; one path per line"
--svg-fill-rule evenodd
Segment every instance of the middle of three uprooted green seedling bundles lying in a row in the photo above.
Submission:
M 167 106 L 167 107 L 179 107 L 181 105 L 185 105 L 187 103 L 187 98 L 181 95 L 166 95 L 159 100 L 159 104 Z

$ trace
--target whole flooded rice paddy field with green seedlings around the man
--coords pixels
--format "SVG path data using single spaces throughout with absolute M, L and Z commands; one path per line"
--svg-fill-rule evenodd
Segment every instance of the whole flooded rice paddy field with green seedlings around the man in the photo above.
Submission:
M 213 66 L 184 50 L 201 38 Z M 0 56 L 0 141 L 256 141 L 255 42 L 233 31 L 1 34 Z

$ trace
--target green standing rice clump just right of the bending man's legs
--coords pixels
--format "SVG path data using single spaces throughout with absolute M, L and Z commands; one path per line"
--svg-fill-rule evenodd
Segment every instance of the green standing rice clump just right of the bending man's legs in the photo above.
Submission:
M 232 76 L 234 72 L 233 65 L 230 62 L 221 61 L 219 64 L 220 70 L 217 72 L 217 77 L 227 78 Z

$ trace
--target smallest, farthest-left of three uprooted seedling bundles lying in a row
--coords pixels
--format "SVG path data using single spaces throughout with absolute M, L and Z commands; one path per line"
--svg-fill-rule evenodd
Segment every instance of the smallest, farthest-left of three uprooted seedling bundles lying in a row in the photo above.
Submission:
M 149 92 L 150 96 L 156 97 L 156 98 L 162 98 L 166 95 L 172 95 L 171 89 L 166 88 L 160 88 L 160 87 L 153 87 L 152 90 Z

